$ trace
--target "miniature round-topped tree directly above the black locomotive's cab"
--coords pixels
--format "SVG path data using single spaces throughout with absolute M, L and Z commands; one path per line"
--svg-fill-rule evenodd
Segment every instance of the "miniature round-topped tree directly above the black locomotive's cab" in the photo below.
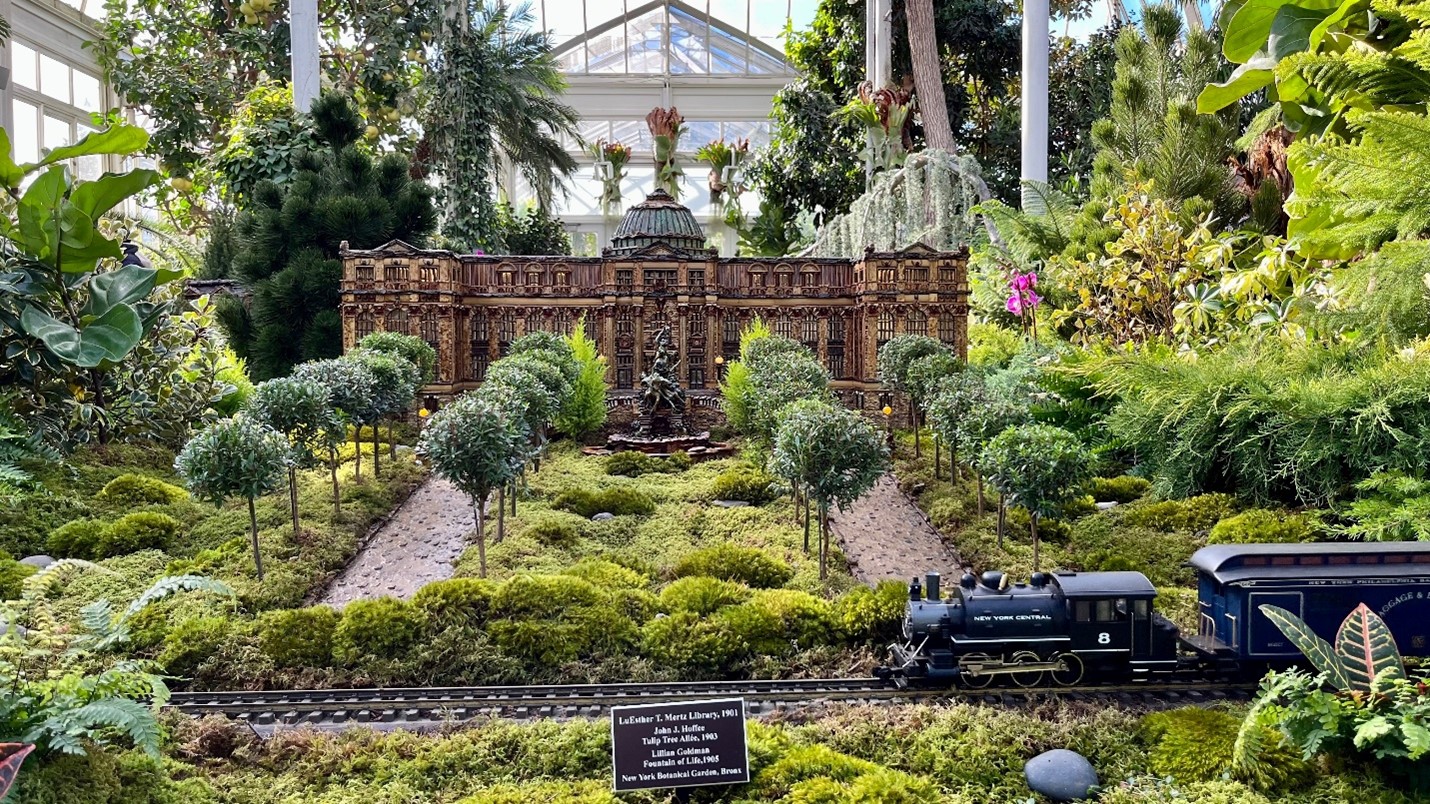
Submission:
M 1087 448 L 1062 428 L 1020 425 L 1002 431 L 984 449 L 994 488 L 1032 516 L 1032 569 L 1038 569 L 1038 519 L 1055 516 L 1093 476 Z

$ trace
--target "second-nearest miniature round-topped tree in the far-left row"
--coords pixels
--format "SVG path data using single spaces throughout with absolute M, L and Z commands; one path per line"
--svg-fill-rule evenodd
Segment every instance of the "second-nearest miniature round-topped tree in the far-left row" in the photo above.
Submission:
M 317 451 L 330 446 L 335 433 L 342 433 L 343 423 L 327 398 L 327 389 L 310 379 L 277 378 L 260 382 L 249 398 L 247 415 L 269 429 L 287 438 L 287 502 L 293 516 L 293 535 L 299 535 L 297 522 L 297 469 L 310 466 Z M 340 438 L 340 436 L 339 436 Z M 333 486 L 337 494 L 337 486 Z

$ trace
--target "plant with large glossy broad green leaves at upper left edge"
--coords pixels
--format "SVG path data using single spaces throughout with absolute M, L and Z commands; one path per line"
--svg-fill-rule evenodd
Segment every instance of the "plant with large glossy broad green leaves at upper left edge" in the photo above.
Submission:
M 0 132 L 0 379 L 37 393 L 69 389 L 73 418 L 110 435 L 106 373 L 160 319 L 154 288 L 177 273 L 123 265 L 119 240 L 100 216 L 159 180 L 153 170 L 76 177 L 77 159 L 130 156 L 144 149 L 143 129 L 117 123 L 17 165 Z

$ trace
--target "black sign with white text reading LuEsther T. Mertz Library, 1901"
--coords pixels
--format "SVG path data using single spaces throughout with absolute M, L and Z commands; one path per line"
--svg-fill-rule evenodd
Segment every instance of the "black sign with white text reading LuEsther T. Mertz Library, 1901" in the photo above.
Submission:
M 611 707 L 616 793 L 749 781 L 745 700 Z

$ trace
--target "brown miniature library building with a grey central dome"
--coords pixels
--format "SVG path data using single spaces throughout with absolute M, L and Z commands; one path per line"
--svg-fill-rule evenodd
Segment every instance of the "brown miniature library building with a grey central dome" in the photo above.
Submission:
M 343 346 L 365 335 L 418 335 L 438 350 L 428 393 L 480 385 L 526 332 L 585 320 L 611 363 L 615 396 L 633 395 L 669 328 L 692 402 L 716 393 L 739 333 L 762 318 L 805 343 L 857 408 L 877 408 L 878 348 L 921 333 L 968 349 L 968 252 L 868 250 L 861 259 L 718 258 L 688 209 L 664 190 L 631 207 L 599 258 L 483 256 L 390 242 L 343 247 Z

